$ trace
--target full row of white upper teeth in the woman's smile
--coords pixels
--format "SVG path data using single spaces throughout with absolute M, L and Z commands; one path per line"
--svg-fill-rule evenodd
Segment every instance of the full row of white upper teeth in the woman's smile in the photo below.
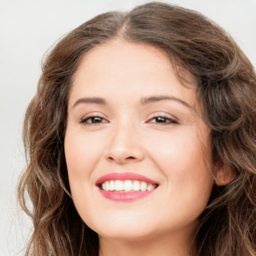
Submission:
M 106 180 L 101 184 L 104 191 L 150 191 L 155 187 L 156 184 L 139 180 Z

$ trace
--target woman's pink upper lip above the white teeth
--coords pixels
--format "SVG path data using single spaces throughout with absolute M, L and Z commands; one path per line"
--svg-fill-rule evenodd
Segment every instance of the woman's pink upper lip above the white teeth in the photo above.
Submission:
M 152 183 L 152 184 L 158 184 L 157 181 L 152 180 L 148 177 L 145 177 L 143 175 L 134 173 L 134 172 L 111 172 L 108 174 L 105 174 L 97 179 L 96 184 L 101 184 L 106 180 L 140 180 L 144 181 L 146 183 Z

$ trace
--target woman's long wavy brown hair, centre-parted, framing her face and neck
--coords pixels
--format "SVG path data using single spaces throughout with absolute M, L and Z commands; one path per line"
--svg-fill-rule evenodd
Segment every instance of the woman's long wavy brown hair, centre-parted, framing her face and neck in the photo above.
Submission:
M 98 15 L 64 36 L 47 55 L 23 128 L 27 167 L 18 196 L 33 221 L 26 255 L 98 254 L 97 234 L 83 223 L 69 194 L 63 139 L 72 75 L 86 52 L 113 38 L 161 48 L 198 80 L 198 99 L 211 128 L 212 164 L 231 170 L 234 180 L 213 186 L 195 233 L 196 255 L 255 255 L 255 72 L 213 21 L 159 2 Z

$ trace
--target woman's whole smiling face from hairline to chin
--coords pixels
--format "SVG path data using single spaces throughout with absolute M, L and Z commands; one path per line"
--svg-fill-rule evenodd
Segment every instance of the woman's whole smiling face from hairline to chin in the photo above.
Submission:
M 195 228 L 213 183 L 195 90 L 152 46 L 115 40 L 83 57 L 64 147 L 75 207 L 99 237 L 185 240 Z

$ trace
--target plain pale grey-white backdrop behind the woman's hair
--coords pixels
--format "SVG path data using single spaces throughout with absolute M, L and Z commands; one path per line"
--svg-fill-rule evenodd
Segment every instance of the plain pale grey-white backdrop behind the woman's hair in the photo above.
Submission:
M 31 223 L 16 203 L 24 167 L 21 132 L 43 53 L 62 35 L 108 10 L 148 0 L 0 0 L 0 256 L 22 255 Z M 256 0 L 166 0 L 224 27 L 256 66 Z M 255 99 L 256 100 L 256 99 Z

